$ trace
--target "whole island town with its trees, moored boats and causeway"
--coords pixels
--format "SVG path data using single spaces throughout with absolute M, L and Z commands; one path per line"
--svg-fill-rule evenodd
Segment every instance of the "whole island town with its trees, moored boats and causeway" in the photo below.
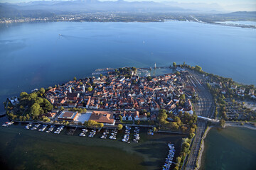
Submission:
M 26 129 L 60 132 L 68 127 L 68 135 L 80 130 L 81 137 L 137 143 L 140 128 L 148 135 L 170 132 L 186 135 L 181 150 L 174 159 L 174 145 L 162 169 L 200 167 L 203 139 L 209 128 L 247 126 L 255 128 L 256 113 L 250 107 L 255 102 L 255 86 L 239 84 L 233 79 L 203 72 L 199 66 L 176 64 L 169 74 L 151 76 L 152 68 L 122 67 L 97 69 L 93 77 L 21 92 L 4 102 L 10 122 L 25 123 Z M 193 153 L 193 154 L 191 154 Z

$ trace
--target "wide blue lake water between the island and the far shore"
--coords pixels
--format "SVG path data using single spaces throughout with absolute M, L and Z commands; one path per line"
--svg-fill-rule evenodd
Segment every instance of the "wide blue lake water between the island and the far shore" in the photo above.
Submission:
M 97 68 L 155 62 L 198 64 L 256 84 L 256 30 L 178 21 L 2 24 L 0 58 L 1 103 L 21 91 L 90 76 Z

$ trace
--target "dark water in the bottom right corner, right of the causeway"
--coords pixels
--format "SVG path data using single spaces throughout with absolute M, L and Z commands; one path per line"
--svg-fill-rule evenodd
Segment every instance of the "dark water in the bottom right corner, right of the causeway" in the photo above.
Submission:
M 254 170 L 256 131 L 247 128 L 212 129 L 205 140 L 201 170 Z

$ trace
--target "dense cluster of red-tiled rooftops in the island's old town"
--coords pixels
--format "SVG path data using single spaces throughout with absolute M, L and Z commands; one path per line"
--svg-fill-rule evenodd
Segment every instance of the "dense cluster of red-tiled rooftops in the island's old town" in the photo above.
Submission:
M 98 78 L 68 81 L 62 86 L 49 89 L 45 96 L 58 108 L 120 111 L 127 120 L 129 116 L 144 118 L 146 114 L 139 114 L 142 110 L 158 113 L 163 108 L 173 113 L 193 113 L 189 97 L 194 89 L 184 86 L 183 79 L 176 74 L 152 78 L 119 71 Z

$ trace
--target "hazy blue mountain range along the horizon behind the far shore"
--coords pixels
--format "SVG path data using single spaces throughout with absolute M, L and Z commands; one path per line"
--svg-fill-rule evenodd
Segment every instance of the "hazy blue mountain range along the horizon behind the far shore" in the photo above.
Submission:
M 178 3 L 174 1 L 30 1 L 27 3 L 0 3 L 0 17 L 36 17 L 58 14 L 79 14 L 95 12 L 129 13 L 225 13 L 218 4 Z M 245 15 L 247 15 L 246 13 Z

